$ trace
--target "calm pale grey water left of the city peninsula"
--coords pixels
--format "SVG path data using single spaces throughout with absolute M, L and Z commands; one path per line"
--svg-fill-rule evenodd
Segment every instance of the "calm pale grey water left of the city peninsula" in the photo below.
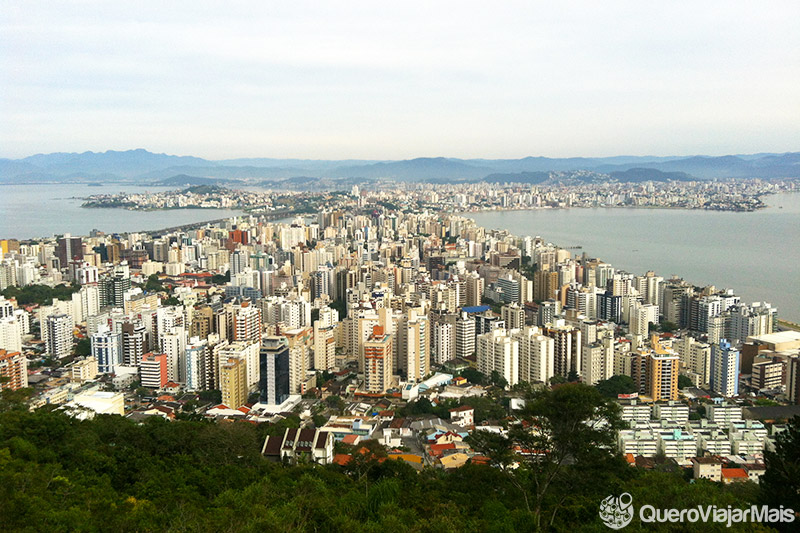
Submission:
M 174 209 L 129 211 L 82 208 L 86 196 L 119 192 L 164 191 L 174 187 L 103 185 L 0 186 L 0 238 L 31 239 L 72 233 L 88 235 L 92 229 L 106 233 L 156 230 L 242 214 L 232 209 Z

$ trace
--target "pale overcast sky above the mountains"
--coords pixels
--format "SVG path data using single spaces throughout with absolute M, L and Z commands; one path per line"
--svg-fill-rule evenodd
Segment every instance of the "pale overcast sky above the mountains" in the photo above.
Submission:
M 800 151 L 800 2 L 0 0 L 0 157 Z

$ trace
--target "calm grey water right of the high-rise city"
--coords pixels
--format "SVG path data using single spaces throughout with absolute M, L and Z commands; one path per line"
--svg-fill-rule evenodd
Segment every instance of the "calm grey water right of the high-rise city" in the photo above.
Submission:
M 800 321 L 800 194 L 765 199 L 754 213 L 683 209 L 541 209 L 468 213 L 486 228 L 582 246 L 616 268 L 677 274 L 695 285 L 732 288 Z

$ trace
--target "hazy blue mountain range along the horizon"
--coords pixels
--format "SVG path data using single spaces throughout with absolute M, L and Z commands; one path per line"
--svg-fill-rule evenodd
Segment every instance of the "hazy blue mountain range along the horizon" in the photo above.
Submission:
M 389 160 L 245 158 L 209 160 L 152 153 L 144 149 L 37 154 L 0 159 L 0 184 L 128 182 L 141 184 L 229 183 L 314 186 L 390 179 L 395 181 L 547 182 L 551 173 L 589 171 L 617 181 L 717 178 L 800 178 L 800 152 L 726 156 L 616 156 L 600 158 L 524 157 L 456 159 L 420 157 Z M 190 178 L 188 181 L 181 181 Z M 290 180 L 290 178 L 292 178 Z M 288 181 L 287 181 L 288 180 Z M 592 178 L 596 180 L 596 178 Z

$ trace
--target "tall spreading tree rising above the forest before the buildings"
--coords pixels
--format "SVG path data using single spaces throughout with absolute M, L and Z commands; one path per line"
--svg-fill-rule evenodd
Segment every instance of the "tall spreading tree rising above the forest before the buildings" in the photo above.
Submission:
M 619 412 L 619 405 L 594 387 L 570 383 L 532 391 L 520 412 L 525 423 L 513 426 L 507 437 L 479 431 L 470 440 L 506 472 L 541 529 L 543 519 L 552 525 L 574 494 L 573 479 L 618 457 Z M 510 468 L 514 463 L 519 466 Z

